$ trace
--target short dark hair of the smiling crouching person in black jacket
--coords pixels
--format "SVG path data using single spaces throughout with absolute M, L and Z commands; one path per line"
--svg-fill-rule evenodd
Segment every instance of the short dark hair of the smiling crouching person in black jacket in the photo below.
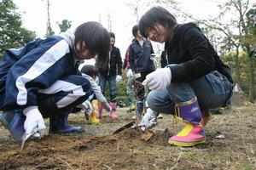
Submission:
M 148 28 L 154 29 L 154 25 L 159 23 L 165 28 L 172 28 L 177 25 L 175 17 L 160 6 L 150 8 L 139 20 L 139 30 L 143 37 L 148 37 Z

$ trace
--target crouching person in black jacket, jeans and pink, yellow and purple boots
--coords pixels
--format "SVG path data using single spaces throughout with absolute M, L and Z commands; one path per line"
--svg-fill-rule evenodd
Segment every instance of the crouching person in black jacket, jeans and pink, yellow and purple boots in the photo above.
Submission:
M 193 23 L 177 24 L 165 8 L 154 7 L 143 14 L 139 29 L 154 42 L 166 42 L 166 68 L 143 81 L 150 90 L 142 126 L 151 127 L 156 112 L 174 113 L 185 122 L 183 130 L 169 144 L 193 146 L 206 141 L 209 110 L 230 105 L 232 77 L 217 52 Z M 176 108 L 176 109 L 174 109 Z

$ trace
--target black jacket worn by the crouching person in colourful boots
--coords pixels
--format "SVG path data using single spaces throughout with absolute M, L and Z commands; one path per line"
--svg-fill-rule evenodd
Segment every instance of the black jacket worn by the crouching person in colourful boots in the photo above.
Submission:
M 192 82 L 211 71 L 218 71 L 229 79 L 230 68 L 222 62 L 217 52 L 201 29 L 194 23 L 178 25 L 174 29 L 171 42 L 166 42 L 167 62 L 170 66 L 172 82 Z

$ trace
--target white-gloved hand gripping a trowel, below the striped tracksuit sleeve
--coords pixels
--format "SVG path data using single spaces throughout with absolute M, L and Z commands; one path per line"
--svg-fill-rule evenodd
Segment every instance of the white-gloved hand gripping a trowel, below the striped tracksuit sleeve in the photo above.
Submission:
M 38 133 L 41 133 L 45 128 L 44 118 L 38 110 L 38 106 L 28 106 L 23 110 L 23 114 L 26 116 L 24 122 L 24 128 L 26 134 L 30 134 L 33 130 L 38 127 Z M 38 137 L 38 133 L 33 136 Z

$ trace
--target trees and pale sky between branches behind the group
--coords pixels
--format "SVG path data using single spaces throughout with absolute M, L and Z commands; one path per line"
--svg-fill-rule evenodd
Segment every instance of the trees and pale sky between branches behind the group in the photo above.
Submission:
M 47 18 L 44 37 L 66 31 L 73 26 L 73 20 L 65 18 L 59 22 L 52 23 L 49 11 L 54 9 L 50 6 L 51 2 L 50 0 L 43 0 L 42 2 L 45 4 L 45 15 Z M 218 3 L 218 14 L 214 16 L 206 14 L 204 19 L 189 14 L 175 0 L 132 0 L 129 3 L 125 3 L 125 5 L 133 16 L 134 23 L 137 23 L 145 9 L 155 5 L 161 5 L 172 11 L 172 14 L 175 14 L 179 23 L 195 22 L 201 27 L 210 42 L 212 42 L 220 58 L 232 69 L 234 82 L 240 85 L 246 99 L 253 103 L 256 99 L 256 3 L 253 0 L 214 2 Z M 30 31 L 24 26 L 22 13 L 13 0 L 0 1 L 0 58 L 3 57 L 3 52 L 6 48 L 20 47 L 38 37 L 35 31 Z M 108 28 L 108 31 L 112 31 L 113 16 L 108 14 L 106 17 L 108 26 L 105 27 Z M 102 18 L 100 17 L 96 21 L 103 22 Z M 53 24 L 59 26 L 59 32 L 53 31 Z M 131 34 L 131 32 L 129 33 Z M 163 45 L 154 43 L 154 52 L 158 65 L 160 65 L 162 47 Z M 125 73 L 126 71 L 124 70 L 123 81 L 118 84 L 120 106 L 125 105 L 127 102 Z

